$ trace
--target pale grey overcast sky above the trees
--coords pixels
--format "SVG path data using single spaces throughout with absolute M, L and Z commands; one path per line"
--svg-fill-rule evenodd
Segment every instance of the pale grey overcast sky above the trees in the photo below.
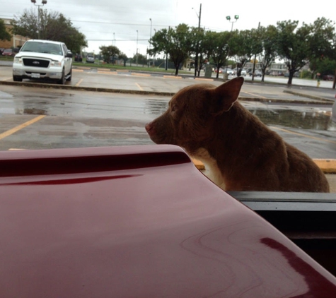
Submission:
M 42 4 L 42 0 L 36 0 Z M 336 21 L 334 2 L 325 1 L 251 1 L 251 0 L 47 0 L 43 8 L 63 13 L 88 40 L 86 52 L 99 52 L 101 45 L 114 44 L 127 56 L 146 54 L 149 37 L 155 30 L 180 23 L 206 30 L 245 30 L 260 25 L 276 25 L 278 20 L 313 23 L 320 17 Z M 21 16 L 34 5 L 30 0 L 0 0 L 0 18 Z M 35 7 L 37 12 L 37 7 Z M 238 15 L 236 23 L 226 16 Z M 151 19 L 151 20 L 150 20 Z M 300 23 L 302 24 L 302 23 Z

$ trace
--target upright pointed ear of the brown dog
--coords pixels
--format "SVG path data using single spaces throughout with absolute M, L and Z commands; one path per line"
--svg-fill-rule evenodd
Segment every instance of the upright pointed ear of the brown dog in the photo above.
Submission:
M 244 78 L 238 77 L 233 78 L 226 83 L 214 88 L 213 90 L 213 104 L 214 114 L 221 114 L 222 112 L 227 112 L 236 102 L 238 95 L 241 92 L 241 86 L 244 83 Z

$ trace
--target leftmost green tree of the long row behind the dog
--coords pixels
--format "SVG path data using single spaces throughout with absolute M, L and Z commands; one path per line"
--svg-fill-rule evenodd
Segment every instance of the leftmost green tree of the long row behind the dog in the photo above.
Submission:
M 169 55 L 169 59 L 173 61 L 175 66 L 175 75 L 178 75 L 180 65 L 192 52 L 192 34 L 190 27 L 185 24 L 180 24 L 175 29 L 159 30 L 149 42 L 152 46 L 148 50 L 149 54 L 163 52 Z

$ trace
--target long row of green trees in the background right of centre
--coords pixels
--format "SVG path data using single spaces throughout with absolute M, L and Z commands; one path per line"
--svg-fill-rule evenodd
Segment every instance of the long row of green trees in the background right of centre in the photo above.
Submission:
M 309 63 L 316 73 L 323 60 L 336 61 L 335 23 L 326 18 L 318 18 L 313 24 L 303 23 L 301 27 L 299 21 L 286 20 L 277 22 L 276 26 L 231 32 L 207 31 L 180 24 L 156 31 L 149 42 L 149 54 L 168 54 L 175 65 L 175 74 L 190 56 L 198 57 L 195 59 L 195 75 L 198 71 L 198 76 L 205 61 L 212 61 L 220 68 L 227 65 L 228 59 L 233 59 L 240 76 L 251 59 L 259 61 L 263 74 L 280 59 L 288 68 L 288 83 L 291 84 L 294 73 L 306 64 Z

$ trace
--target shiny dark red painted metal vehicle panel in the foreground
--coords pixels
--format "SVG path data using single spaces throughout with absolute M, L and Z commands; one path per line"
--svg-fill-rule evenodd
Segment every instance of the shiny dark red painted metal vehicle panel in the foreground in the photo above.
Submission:
M 172 145 L 0 152 L 0 297 L 336 297 Z

